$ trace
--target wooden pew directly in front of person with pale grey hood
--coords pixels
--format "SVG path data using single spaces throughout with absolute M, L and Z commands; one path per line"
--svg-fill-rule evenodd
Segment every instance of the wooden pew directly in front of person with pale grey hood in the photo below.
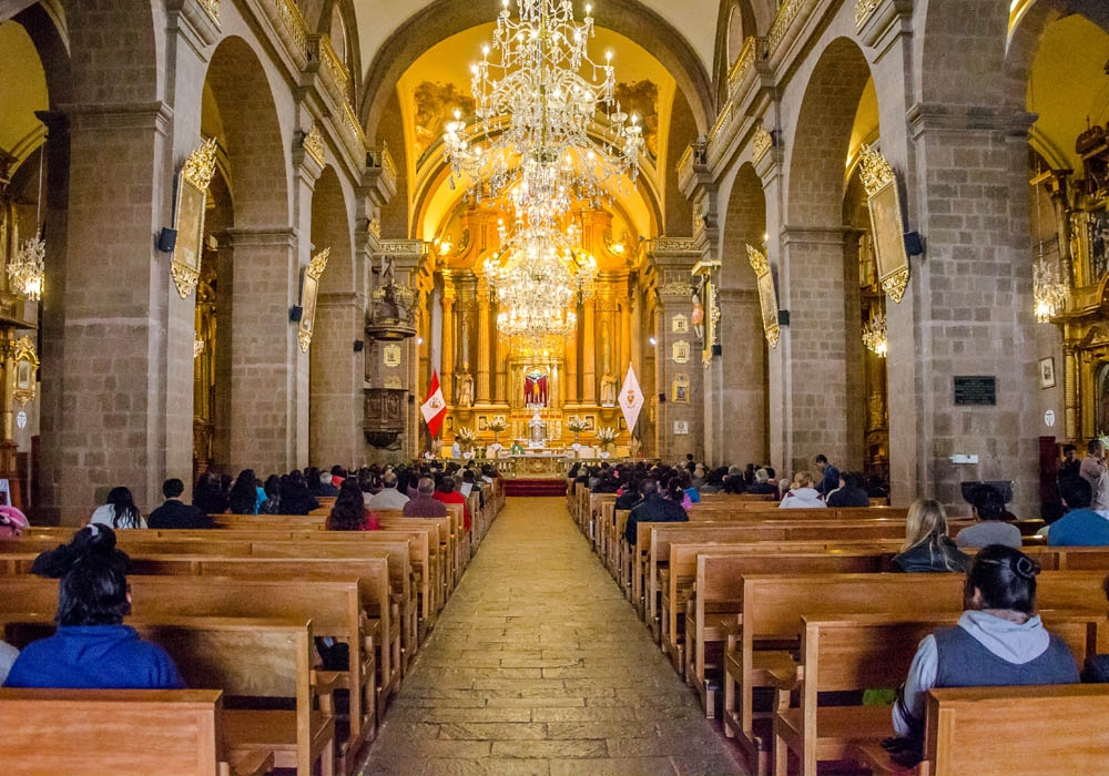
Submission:
M 1044 613 L 1044 624 L 1065 639 L 1080 665 L 1096 651 L 1103 613 Z M 896 687 L 908 674 L 920 640 L 939 627 L 954 625 L 957 613 L 937 615 L 853 616 L 834 620 L 805 617 L 802 625 L 801 704 L 790 707 L 792 687 L 779 687 L 774 716 L 774 769 L 790 772 L 790 754 L 797 756 L 804 776 L 816 776 L 817 763 L 851 758 L 859 748 L 874 751 L 892 734 L 889 706 L 823 706 L 821 693 L 861 693 Z M 1026 717 L 1027 725 L 1035 717 Z M 1027 734 L 1027 729 L 1026 729 Z M 1038 738 L 1039 736 L 1037 736 Z M 1028 753 L 1025 753 L 1028 756 Z M 1102 763 L 1103 765 L 1103 763 Z M 990 763 L 984 770 L 1008 773 Z

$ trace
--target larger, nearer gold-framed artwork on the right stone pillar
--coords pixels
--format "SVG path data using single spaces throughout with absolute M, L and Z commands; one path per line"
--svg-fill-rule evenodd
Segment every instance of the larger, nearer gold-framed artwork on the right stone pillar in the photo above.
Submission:
M 864 143 L 859 153 L 859 177 L 871 211 L 878 283 L 891 299 L 901 304 L 908 288 L 909 266 L 897 173 L 876 149 Z

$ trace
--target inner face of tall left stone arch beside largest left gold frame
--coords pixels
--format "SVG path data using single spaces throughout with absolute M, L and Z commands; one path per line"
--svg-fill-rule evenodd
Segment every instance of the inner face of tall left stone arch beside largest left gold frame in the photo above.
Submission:
M 228 471 L 286 471 L 295 457 L 296 233 L 289 226 L 288 143 L 266 72 L 242 38 L 226 38 L 205 79 L 201 124 L 218 130 L 234 221 L 220 241 L 216 375 L 225 385 L 216 460 Z

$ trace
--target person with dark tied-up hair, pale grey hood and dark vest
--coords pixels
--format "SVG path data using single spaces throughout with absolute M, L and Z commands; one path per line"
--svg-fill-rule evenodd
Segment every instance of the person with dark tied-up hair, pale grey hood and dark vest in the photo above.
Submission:
M 894 760 L 915 765 L 924 741 L 932 687 L 1075 684 L 1078 666 L 1067 643 L 1036 614 L 1039 564 L 1004 544 L 978 552 L 963 592 L 958 625 L 920 642 L 894 703 L 896 736 L 883 745 Z

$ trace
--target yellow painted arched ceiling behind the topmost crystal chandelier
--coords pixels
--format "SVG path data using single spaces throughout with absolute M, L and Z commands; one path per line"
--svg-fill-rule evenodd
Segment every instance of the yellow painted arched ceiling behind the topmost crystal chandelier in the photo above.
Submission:
M 464 113 L 469 112 L 466 104 L 470 98 L 469 68 L 480 59 L 481 47 L 491 40 L 492 30 L 491 23 L 482 24 L 437 43 L 397 82 L 406 145 L 407 169 L 404 172 L 413 182 L 408 191 L 413 197 L 410 205 L 416 210 L 417 235 L 425 241 L 430 242 L 444 234 L 445 228 L 450 228 L 447 224 L 457 218 L 457 211 L 462 204 L 465 186 L 451 188 L 445 173 L 436 166 L 441 159 L 436 143 L 442 135 L 444 122 L 450 120 L 456 108 Z M 665 152 L 676 92 L 674 78 L 642 47 L 609 30 L 598 29 L 590 45 L 591 54 L 601 60 L 610 50 L 613 52 L 618 84 L 638 93 L 640 99 L 638 104 L 624 103 L 623 110 L 647 118 L 650 113 L 648 105 L 653 106 L 654 115 L 644 122 L 649 130 L 653 130 L 648 136 L 648 144 L 660 170 L 672 167 L 672 164 L 665 164 Z M 653 93 L 653 99 L 644 98 L 644 93 Z M 420 163 L 421 157 L 426 164 Z M 437 170 L 435 177 L 417 183 L 417 176 L 427 176 L 429 169 Z M 650 171 L 644 170 L 643 174 L 650 174 Z M 640 190 L 628 185 L 624 188 L 627 193 L 623 195 L 613 188 L 618 198 L 613 211 L 623 214 L 619 219 L 625 222 L 624 228 L 634 234 L 653 233 L 658 215 L 652 204 Z M 664 191 L 659 182 L 654 182 L 652 188 Z

